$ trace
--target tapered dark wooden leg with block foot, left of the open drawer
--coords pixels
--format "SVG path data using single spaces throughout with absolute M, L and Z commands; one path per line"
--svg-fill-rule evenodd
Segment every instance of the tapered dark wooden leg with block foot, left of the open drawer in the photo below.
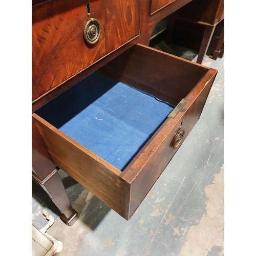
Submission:
M 65 187 L 53 163 L 47 147 L 35 123 L 32 121 L 32 177 L 46 191 L 61 212 L 60 219 L 67 225 L 77 220 L 77 212 L 72 208 Z

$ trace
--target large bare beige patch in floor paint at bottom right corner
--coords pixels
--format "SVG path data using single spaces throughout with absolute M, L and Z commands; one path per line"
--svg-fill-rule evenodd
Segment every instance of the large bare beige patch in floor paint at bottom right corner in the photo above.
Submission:
M 180 256 L 224 255 L 223 177 L 222 167 L 212 184 L 205 187 L 206 212 L 196 226 L 189 228 Z

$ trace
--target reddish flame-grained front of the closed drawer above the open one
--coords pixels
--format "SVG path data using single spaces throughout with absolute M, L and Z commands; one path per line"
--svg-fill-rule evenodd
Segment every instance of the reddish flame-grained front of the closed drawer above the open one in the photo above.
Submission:
M 56 0 L 32 6 L 32 101 L 137 37 L 139 13 L 139 0 Z M 94 45 L 83 35 L 89 18 L 101 28 Z

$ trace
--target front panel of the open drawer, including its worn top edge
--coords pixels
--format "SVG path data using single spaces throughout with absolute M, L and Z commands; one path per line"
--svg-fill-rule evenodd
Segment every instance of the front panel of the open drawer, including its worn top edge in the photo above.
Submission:
M 168 118 L 150 141 L 125 168 L 120 177 L 130 184 L 126 191 L 130 196 L 130 208 L 126 207 L 129 219 L 134 214 L 144 197 L 155 184 L 164 168 L 172 159 L 178 148 L 172 148 L 172 142 L 181 126 L 185 136 L 189 134 L 199 119 L 206 98 L 214 82 L 216 70 L 210 69 L 197 86 L 187 95 L 188 102 L 176 118 Z M 183 140 L 184 140 L 183 139 Z

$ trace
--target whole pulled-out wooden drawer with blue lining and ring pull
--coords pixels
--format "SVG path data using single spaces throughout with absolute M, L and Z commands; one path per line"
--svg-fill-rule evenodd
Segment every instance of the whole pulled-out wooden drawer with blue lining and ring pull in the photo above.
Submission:
M 200 117 L 216 74 L 138 44 L 32 116 L 55 164 L 129 220 Z

